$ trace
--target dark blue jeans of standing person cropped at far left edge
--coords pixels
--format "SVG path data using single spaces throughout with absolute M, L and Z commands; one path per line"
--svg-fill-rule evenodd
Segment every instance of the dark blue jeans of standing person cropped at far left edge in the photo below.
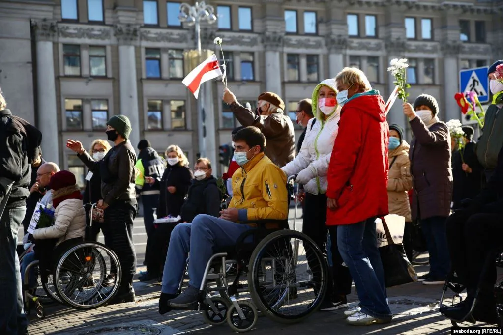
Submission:
M 25 212 L 26 206 L 6 208 L 0 219 L 0 333 L 6 335 L 24 333 L 28 327 L 16 252 Z

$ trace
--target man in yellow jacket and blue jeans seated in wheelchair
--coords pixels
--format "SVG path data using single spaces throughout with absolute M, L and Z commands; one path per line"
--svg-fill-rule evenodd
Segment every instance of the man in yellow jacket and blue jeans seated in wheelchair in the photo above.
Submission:
M 286 176 L 265 156 L 264 135 L 256 127 L 246 127 L 234 135 L 233 141 L 234 158 L 241 167 L 232 176 L 229 208 L 222 210 L 220 217 L 197 215 L 192 224 L 179 224 L 173 230 L 162 276 L 160 314 L 198 302 L 204 269 L 213 249 L 235 245 L 242 233 L 256 228 L 246 221 L 287 219 Z M 268 225 L 274 228 L 275 224 Z M 189 287 L 177 297 L 189 252 Z

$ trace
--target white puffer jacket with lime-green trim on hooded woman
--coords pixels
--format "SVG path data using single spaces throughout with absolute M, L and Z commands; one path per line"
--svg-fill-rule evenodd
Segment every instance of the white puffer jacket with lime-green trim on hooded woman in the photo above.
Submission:
M 337 106 L 336 111 L 323 121 L 322 113 L 317 108 L 318 91 L 321 86 L 328 86 L 337 92 L 334 79 L 325 79 L 316 86 L 312 98 L 312 107 L 313 111 L 316 111 L 316 119 L 309 120 L 306 136 L 297 157 L 281 168 L 287 176 L 296 175 L 306 170 L 305 173 L 310 179 L 304 183 L 304 189 L 306 192 L 315 195 L 326 193 L 328 164 L 330 163 L 333 143 L 339 132 L 338 123 L 341 118 L 341 107 Z M 314 120 L 316 122 L 312 125 Z M 299 180 L 297 182 L 302 183 Z

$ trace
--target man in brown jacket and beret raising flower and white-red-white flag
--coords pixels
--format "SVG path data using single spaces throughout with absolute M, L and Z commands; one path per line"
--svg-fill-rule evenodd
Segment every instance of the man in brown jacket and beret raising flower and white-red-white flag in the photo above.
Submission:
M 254 126 L 266 137 L 265 154 L 279 167 L 285 166 L 295 157 L 295 141 L 292 121 L 283 113 L 285 103 L 275 93 L 259 95 L 259 114 L 240 104 L 228 88 L 223 92 L 223 101 L 244 127 Z

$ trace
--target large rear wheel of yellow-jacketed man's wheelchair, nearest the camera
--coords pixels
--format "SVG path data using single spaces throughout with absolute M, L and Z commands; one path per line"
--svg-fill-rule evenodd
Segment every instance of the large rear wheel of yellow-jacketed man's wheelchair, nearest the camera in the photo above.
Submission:
M 300 232 L 268 235 L 248 265 L 251 298 L 269 318 L 298 322 L 316 311 L 328 287 L 328 268 L 318 246 Z

